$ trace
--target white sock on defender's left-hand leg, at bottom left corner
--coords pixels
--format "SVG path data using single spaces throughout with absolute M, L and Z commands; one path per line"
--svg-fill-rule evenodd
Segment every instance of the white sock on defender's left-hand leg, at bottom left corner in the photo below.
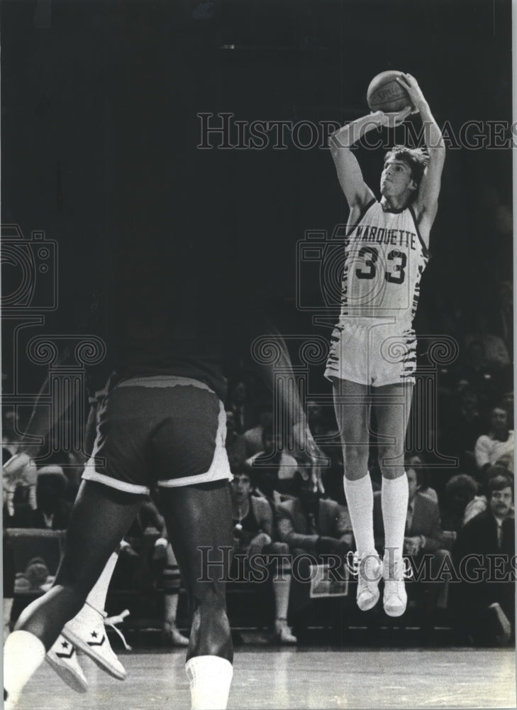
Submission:
M 4 646 L 4 688 L 9 700 L 18 698 L 23 686 L 45 658 L 45 646 L 29 631 L 13 631 Z

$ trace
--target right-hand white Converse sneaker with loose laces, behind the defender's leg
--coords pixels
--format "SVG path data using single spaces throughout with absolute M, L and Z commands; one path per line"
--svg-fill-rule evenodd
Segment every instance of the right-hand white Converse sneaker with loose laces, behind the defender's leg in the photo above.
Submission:
M 118 680 L 126 678 L 126 670 L 111 649 L 104 628 L 104 617 L 100 611 L 96 611 L 93 607 L 89 607 L 88 610 L 83 607 L 77 616 L 65 624 L 61 633 L 113 678 Z M 119 631 L 118 633 L 120 634 Z

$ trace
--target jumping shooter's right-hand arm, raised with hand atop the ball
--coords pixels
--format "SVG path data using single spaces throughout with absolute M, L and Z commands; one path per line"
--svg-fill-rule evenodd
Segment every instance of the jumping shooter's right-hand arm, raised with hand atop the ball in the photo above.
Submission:
M 424 235 L 429 233 L 438 211 L 438 197 L 442 182 L 443 163 L 445 163 L 445 142 L 440 126 L 431 114 L 429 104 L 416 79 L 411 74 L 404 74 L 398 77 L 397 81 L 404 86 L 416 111 L 421 116 L 424 140 L 429 153 L 429 163 L 423 174 L 415 202 L 418 226 Z

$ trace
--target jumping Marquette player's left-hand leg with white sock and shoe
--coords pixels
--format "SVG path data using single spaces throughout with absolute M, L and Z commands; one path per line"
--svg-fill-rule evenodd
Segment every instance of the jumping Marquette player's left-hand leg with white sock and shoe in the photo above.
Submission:
M 378 586 L 382 574 L 375 552 L 373 488 L 368 471 L 369 389 L 357 382 L 334 380 L 333 396 L 343 445 L 343 484 L 357 546 L 357 606 L 367 611 L 379 599 Z

